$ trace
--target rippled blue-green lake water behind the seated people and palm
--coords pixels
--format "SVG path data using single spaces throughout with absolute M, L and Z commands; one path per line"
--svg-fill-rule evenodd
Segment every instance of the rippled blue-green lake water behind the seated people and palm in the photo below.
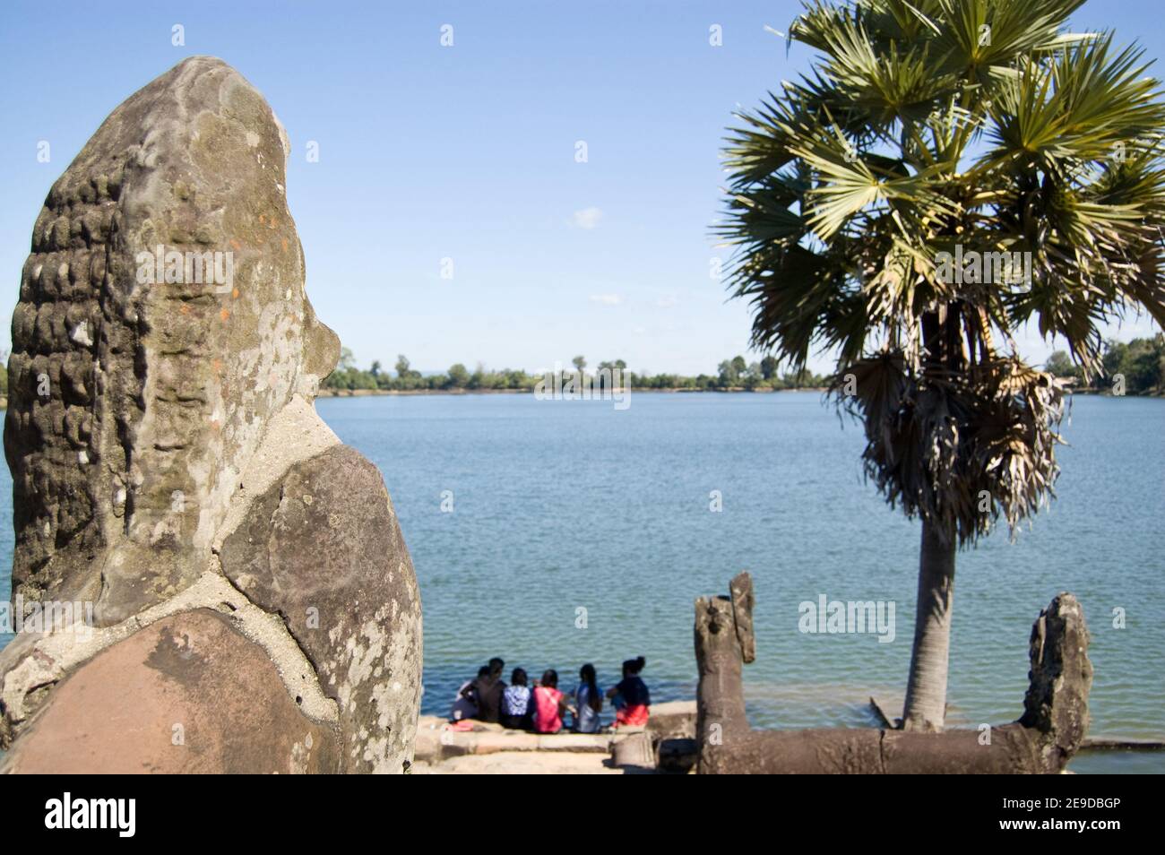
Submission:
M 494 655 L 531 677 L 555 667 L 565 688 L 585 662 L 606 686 L 643 655 L 655 700 L 693 698 L 693 600 L 748 570 L 754 726 L 869 726 L 870 695 L 901 714 L 918 524 L 863 482 L 860 426 L 839 423 L 819 394 L 634 393 L 624 411 L 530 395 L 317 408 L 393 495 L 421 582 L 425 713 L 446 712 Z M 1071 591 L 1093 636 L 1090 735 L 1165 739 L 1163 425 L 1163 400 L 1078 397 L 1059 499 L 1015 543 L 1001 531 L 960 553 L 952 726 L 1018 716 L 1032 621 Z M 822 594 L 894 602 L 896 637 L 802 634 L 799 603 Z M 1089 752 L 1073 769 L 1165 771 L 1165 752 Z

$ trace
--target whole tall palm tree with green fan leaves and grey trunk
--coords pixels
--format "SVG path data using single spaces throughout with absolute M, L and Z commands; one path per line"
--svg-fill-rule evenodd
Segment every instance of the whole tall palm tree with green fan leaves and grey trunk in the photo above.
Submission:
M 807 5 L 810 73 L 726 143 L 719 231 L 754 347 L 836 355 L 867 476 L 922 521 L 908 729 L 944 723 L 958 547 L 1015 530 L 1059 472 L 1061 389 L 1016 331 L 1092 375 L 1106 320 L 1165 323 L 1158 82 L 1109 34 L 1065 31 L 1081 2 Z

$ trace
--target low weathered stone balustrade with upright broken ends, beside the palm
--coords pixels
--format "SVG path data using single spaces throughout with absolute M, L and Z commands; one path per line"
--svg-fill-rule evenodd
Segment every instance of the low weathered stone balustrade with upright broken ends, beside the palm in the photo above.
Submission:
M 939 734 L 876 728 L 753 730 L 741 670 L 755 658 L 753 580 L 741 573 L 730 596 L 696 601 L 698 770 L 716 773 L 1052 773 L 1088 730 L 1088 630 L 1072 594 L 1060 594 L 1031 631 L 1024 714 L 983 732 Z

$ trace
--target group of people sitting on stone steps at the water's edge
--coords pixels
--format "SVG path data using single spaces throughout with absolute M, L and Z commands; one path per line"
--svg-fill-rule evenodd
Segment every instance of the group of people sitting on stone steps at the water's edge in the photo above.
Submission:
M 510 683 L 502 680 L 506 663 L 493 658 L 478 671 L 478 678 L 461 685 L 453 700 L 450 718 L 454 726 L 471 719 L 497 722 L 514 730 L 553 734 L 563 729 L 563 714 L 573 718 L 574 733 L 599 733 L 603 697 L 615 707 L 612 728 L 648 723 L 651 695 L 640 677 L 647 659 L 642 656 L 623 663 L 623 679 L 607 690 L 599 688 L 594 665 L 579 669 L 579 683 L 571 694 L 558 690 L 558 672 L 548 669 L 541 680 L 530 681 L 524 669 L 516 667 Z M 468 726 L 468 723 L 466 725 Z

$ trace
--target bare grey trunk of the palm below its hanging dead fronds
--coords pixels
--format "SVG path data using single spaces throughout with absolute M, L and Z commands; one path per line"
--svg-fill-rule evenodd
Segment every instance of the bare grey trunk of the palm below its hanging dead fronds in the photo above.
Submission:
M 904 730 L 938 732 L 946 718 L 955 539 L 942 537 L 942 534 L 938 525 L 923 520 L 915 646 L 910 657 L 906 706 L 902 713 Z

